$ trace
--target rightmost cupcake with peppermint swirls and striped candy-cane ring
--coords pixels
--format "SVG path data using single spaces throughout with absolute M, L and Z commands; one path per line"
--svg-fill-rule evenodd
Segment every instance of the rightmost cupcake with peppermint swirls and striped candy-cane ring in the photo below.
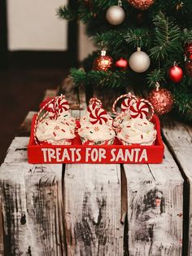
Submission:
M 148 120 L 154 114 L 153 106 L 146 99 L 137 99 L 129 93 L 116 99 L 113 112 L 115 112 L 118 100 L 123 99 L 124 96 L 127 98 L 121 104 L 121 113 L 113 121 L 117 138 L 124 145 L 154 144 L 157 131 L 154 124 Z

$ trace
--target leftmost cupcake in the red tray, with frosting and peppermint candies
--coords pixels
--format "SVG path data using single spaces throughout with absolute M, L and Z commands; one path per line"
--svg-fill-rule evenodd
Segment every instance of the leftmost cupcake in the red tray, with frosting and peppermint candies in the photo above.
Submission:
M 71 145 L 76 137 L 76 120 L 64 95 L 44 100 L 37 115 L 34 131 L 36 143 Z

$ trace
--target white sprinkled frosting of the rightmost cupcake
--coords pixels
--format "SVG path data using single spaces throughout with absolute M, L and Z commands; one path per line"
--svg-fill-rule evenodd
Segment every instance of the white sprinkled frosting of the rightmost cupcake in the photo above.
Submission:
M 141 118 L 133 118 L 123 121 L 117 138 L 124 144 L 152 145 L 155 142 L 157 131 L 151 121 Z

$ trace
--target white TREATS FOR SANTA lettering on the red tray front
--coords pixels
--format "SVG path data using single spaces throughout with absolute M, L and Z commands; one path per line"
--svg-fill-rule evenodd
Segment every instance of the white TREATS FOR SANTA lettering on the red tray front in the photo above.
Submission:
M 142 162 L 147 161 L 145 148 L 41 148 L 44 162 Z

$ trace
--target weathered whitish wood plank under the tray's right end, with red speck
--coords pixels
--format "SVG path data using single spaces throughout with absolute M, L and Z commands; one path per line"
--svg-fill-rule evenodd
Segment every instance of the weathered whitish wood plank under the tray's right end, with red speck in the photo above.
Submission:
M 161 165 L 124 165 L 128 189 L 129 255 L 181 255 L 180 171 L 165 150 Z

